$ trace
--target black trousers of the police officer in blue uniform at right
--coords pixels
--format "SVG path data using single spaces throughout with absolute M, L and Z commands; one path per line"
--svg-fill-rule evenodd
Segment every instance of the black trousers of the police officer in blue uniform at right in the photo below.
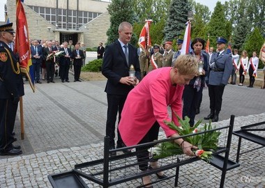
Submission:
M 222 94 L 224 93 L 225 86 L 208 86 L 209 97 L 210 97 L 210 109 L 219 113 L 222 107 Z

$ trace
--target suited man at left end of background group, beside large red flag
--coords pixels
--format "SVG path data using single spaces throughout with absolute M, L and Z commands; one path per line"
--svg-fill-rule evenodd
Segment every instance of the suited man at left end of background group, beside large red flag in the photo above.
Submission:
M 31 61 L 33 65 L 34 79 L 36 83 L 41 84 L 40 81 L 40 63 L 42 61 L 43 50 L 38 45 L 38 40 L 33 40 L 33 46 L 31 46 Z

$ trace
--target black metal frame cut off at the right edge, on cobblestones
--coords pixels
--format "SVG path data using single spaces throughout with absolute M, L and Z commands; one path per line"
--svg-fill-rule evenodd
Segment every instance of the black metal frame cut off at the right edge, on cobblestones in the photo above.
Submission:
M 259 125 L 264 125 L 264 128 L 257 128 L 257 126 L 259 126 Z M 236 162 L 237 163 L 239 162 L 240 155 L 247 153 L 247 152 L 254 151 L 254 150 L 258 150 L 260 148 L 264 148 L 265 137 L 259 136 L 258 134 L 255 134 L 256 132 L 262 132 L 262 131 L 263 132 L 265 131 L 265 121 L 261 122 L 261 123 L 254 123 L 251 125 L 245 125 L 245 126 L 241 127 L 241 130 L 233 132 L 234 135 L 239 136 L 239 143 L 238 143 L 237 152 L 236 152 Z M 255 133 L 253 133 L 253 132 L 255 132 Z M 240 152 L 242 138 L 246 139 L 248 141 L 252 141 L 254 143 L 257 143 L 261 146 L 254 148 L 252 150 L 246 150 L 245 152 Z

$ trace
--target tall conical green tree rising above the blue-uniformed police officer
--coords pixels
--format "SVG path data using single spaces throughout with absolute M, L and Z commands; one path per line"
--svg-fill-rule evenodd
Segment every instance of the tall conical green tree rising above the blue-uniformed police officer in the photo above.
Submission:
M 225 10 L 224 6 L 218 1 L 213 10 L 213 15 L 211 15 L 211 19 L 209 25 L 207 26 L 206 33 L 210 34 L 210 44 L 216 43 L 216 38 L 222 36 L 229 40 L 229 36 L 227 35 L 227 19 L 225 19 Z M 207 36 L 205 36 L 207 38 Z

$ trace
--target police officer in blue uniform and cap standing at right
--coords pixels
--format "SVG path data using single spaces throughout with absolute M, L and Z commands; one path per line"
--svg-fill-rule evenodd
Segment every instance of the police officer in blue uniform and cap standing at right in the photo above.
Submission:
M 222 94 L 233 70 L 232 55 L 227 54 L 225 46 L 227 40 L 219 37 L 217 39 L 218 52 L 212 55 L 209 62 L 209 97 L 211 113 L 204 120 L 211 119 L 212 122 L 218 122 L 219 113 L 222 107 Z

